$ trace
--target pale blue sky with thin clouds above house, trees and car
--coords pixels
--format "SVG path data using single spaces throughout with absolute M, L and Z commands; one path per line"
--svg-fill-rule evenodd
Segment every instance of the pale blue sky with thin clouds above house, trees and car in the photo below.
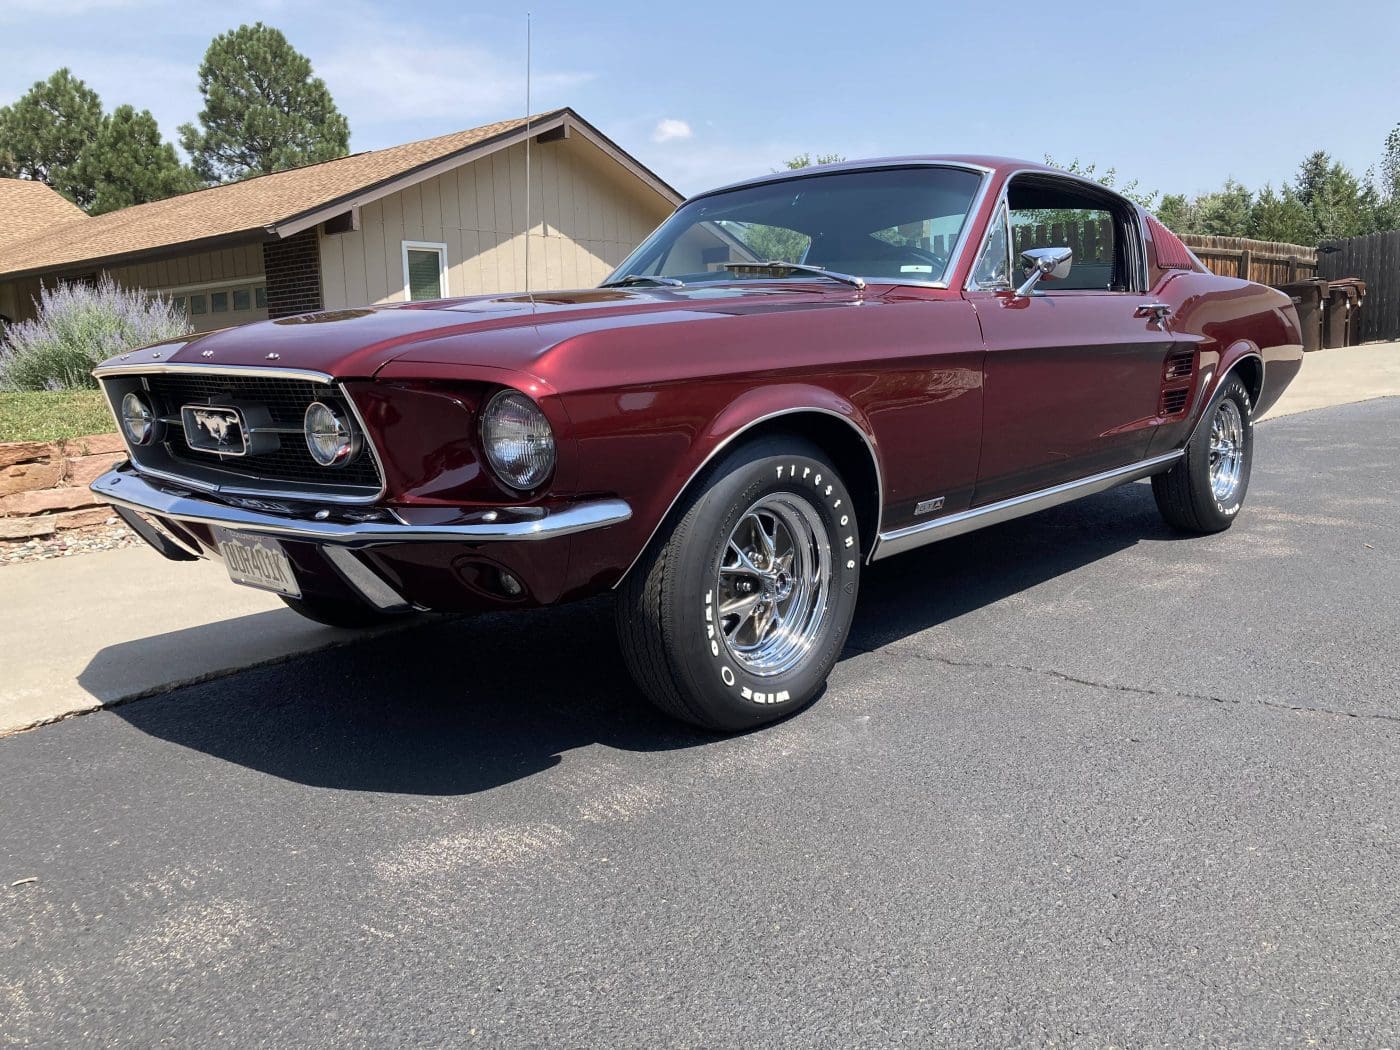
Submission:
M 1313 148 L 1365 169 L 1400 122 L 1393 0 L 0 0 L 0 102 L 69 66 L 174 137 L 210 38 L 262 20 L 375 148 L 521 113 L 526 8 L 535 109 L 573 105 L 683 192 L 799 151 L 1050 153 L 1145 189 L 1257 188 Z

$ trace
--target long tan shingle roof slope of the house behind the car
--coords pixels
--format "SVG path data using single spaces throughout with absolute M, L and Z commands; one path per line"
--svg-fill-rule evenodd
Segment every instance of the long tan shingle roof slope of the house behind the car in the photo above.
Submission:
M 94 216 L 22 241 L 0 241 L 0 276 L 57 269 L 189 242 L 263 231 L 294 216 L 393 181 L 423 165 L 571 111 L 500 120 L 405 146 L 279 171 Z M 48 189 L 48 188 L 45 188 Z M 53 195 L 57 196 L 57 195 Z M 67 202 L 63 202 L 67 204 Z M 73 209 L 71 204 L 67 204 Z M 3 213 L 0 213 L 3 214 Z M 78 216 L 83 213 L 78 211 Z

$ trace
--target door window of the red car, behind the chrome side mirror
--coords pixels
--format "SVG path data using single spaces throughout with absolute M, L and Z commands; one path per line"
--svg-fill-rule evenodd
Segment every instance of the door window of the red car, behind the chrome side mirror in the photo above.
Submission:
M 1007 203 L 1018 273 L 1021 253 L 1030 248 L 1070 248 L 1074 252 L 1070 276 L 1043 281 L 1042 291 L 1130 288 L 1131 255 L 1124 237 L 1133 227 L 1103 197 L 1074 186 L 1029 179 L 1012 183 Z

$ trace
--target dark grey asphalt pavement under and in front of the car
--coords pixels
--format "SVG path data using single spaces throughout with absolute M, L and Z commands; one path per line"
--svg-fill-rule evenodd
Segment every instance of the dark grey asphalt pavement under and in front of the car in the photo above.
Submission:
M 0 1043 L 1396 1046 L 1397 511 L 1400 399 L 1263 423 L 1231 532 L 882 563 L 735 739 L 603 603 L 0 739 Z

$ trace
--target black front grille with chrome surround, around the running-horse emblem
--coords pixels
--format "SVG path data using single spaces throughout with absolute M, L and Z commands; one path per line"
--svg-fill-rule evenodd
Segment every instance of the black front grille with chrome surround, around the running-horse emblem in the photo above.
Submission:
M 132 463 L 141 473 L 193 490 L 225 496 L 267 496 L 333 504 L 368 504 L 384 497 L 384 463 L 364 426 L 360 409 L 330 375 L 297 368 L 203 364 L 113 364 L 98 368 L 113 416 L 122 396 L 141 389 L 160 402 L 162 440 L 132 445 L 118 419 L 118 433 Z M 228 459 L 189 448 L 181 410 L 189 403 L 238 400 L 266 405 L 272 412 L 279 448 L 263 455 Z M 346 468 L 323 468 L 307 451 L 302 416 L 314 400 L 342 402 L 364 438 L 364 452 Z

